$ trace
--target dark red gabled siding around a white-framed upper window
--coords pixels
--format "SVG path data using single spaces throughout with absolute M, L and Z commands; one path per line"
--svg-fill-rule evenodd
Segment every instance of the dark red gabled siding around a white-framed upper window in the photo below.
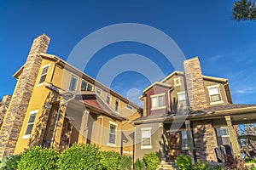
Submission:
M 168 90 L 170 88 L 166 88 L 166 87 L 162 87 L 160 85 L 154 85 L 154 87 L 148 89 L 148 91 L 146 92 L 147 94 L 147 116 L 149 115 L 163 115 L 165 113 L 168 113 L 168 110 L 170 111 L 170 103 L 169 100 L 171 102 L 171 98 L 170 98 L 170 94 L 168 94 Z M 151 95 L 154 94 L 166 94 L 166 108 L 164 109 L 159 109 L 159 110 L 154 110 L 151 111 L 151 106 L 152 106 L 152 102 L 151 102 Z M 168 99 L 170 98 L 170 99 Z

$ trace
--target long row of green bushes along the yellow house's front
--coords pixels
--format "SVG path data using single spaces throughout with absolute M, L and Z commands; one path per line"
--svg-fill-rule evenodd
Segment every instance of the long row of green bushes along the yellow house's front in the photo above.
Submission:
M 61 154 L 36 146 L 21 156 L 3 157 L 0 170 L 99 169 L 131 170 L 131 157 L 114 151 L 100 151 L 96 145 L 73 144 Z

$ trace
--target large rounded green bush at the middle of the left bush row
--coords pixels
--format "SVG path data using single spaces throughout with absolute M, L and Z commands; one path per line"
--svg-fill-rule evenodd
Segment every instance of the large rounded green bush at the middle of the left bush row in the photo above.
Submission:
M 95 144 L 73 144 L 61 153 L 60 169 L 100 169 L 101 152 Z

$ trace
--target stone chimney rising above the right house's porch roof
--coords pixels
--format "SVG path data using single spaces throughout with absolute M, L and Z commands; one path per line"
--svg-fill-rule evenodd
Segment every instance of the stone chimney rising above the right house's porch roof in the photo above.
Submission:
M 207 94 L 199 58 L 187 59 L 183 64 L 191 110 L 200 111 L 207 108 Z

